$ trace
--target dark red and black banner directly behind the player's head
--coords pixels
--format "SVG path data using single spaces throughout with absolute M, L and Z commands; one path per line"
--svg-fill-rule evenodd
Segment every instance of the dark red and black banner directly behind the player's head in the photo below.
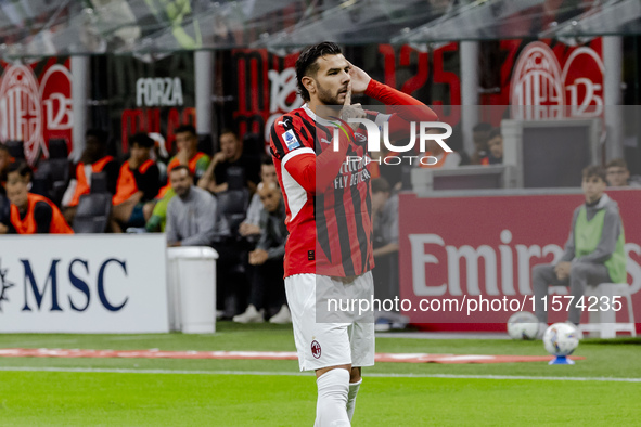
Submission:
M 367 68 L 372 78 L 430 105 L 460 105 L 461 82 L 458 66 L 458 43 L 447 43 L 431 52 L 410 46 L 372 44 L 347 47 L 345 54 Z M 234 100 L 231 119 L 233 129 L 264 134 L 283 113 L 303 105 L 297 95 L 295 64 L 298 53 L 279 56 L 267 49 L 234 49 L 232 66 L 223 67 L 223 79 L 230 83 L 227 95 Z M 371 59 L 362 64 L 360 59 Z M 362 102 L 363 105 L 368 104 Z M 226 111 L 223 115 L 228 115 Z M 460 120 L 460 108 L 443 112 L 441 118 L 452 126 Z

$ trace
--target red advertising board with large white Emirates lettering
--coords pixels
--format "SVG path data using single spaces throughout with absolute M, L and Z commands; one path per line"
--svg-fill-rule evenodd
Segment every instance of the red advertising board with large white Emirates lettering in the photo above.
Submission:
M 641 191 L 607 193 L 618 203 L 624 221 L 628 283 L 639 315 Z M 582 202 L 581 194 L 441 198 L 401 194 L 400 298 L 409 300 L 405 314 L 436 331 L 504 331 L 513 312 L 534 311 L 531 268 L 561 257 L 573 211 Z M 502 302 L 478 306 L 483 298 Z M 567 320 L 565 309 L 548 312 L 551 322 Z M 627 322 L 627 314 L 624 300 L 618 321 Z M 584 311 L 582 321 L 587 320 Z

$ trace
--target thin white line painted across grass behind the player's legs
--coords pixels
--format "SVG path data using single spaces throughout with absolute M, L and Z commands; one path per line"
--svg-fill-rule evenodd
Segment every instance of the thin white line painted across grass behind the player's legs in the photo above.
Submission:
M 279 371 L 180 371 L 180 370 L 131 370 L 117 367 L 39 367 L 39 366 L 0 366 L 3 372 L 63 372 L 99 374 L 175 374 L 175 375 L 256 375 L 256 376 L 312 376 L 307 372 Z M 608 377 L 571 377 L 571 376 L 524 376 L 524 375 L 453 375 L 453 374 L 384 374 L 368 373 L 366 377 L 379 378 L 445 378 L 445 379 L 508 379 L 544 381 L 602 381 L 602 383 L 641 383 L 641 378 Z

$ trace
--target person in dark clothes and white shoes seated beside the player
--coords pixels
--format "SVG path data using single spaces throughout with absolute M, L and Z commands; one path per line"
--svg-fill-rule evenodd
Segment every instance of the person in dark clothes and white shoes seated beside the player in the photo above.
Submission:
M 249 306 L 244 313 L 233 316 L 233 321 L 261 323 L 265 321 L 265 311 L 267 310 L 268 315 L 272 314 L 269 319 L 270 323 L 291 323 L 292 316 L 285 303 L 283 280 L 283 257 L 287 240 L 285 205 L 275 182 L 261 182 L 258 185 L 257 194 L 264 205 L 260 215 L 262 232 L 256 249 L 249 253 L 249 264 L 253 266 L 251 269 Z

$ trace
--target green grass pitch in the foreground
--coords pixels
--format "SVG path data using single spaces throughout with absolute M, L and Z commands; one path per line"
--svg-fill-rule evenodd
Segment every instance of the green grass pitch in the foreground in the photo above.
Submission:
M 0 348 L 294 350 L 291 326 L 218 329 L 0 335 Z M 540 341 L 379 338 L 376 347 L 544 354 Z M 576 354 L 587 359 L 574 366 L 379 363 L 364 370 L 354 425 L 639 425 L 641 340 L 586 339 Z M 0 425 L 311 426 L 315 378 L 297 373 L 296 361 L 0 358 Z

